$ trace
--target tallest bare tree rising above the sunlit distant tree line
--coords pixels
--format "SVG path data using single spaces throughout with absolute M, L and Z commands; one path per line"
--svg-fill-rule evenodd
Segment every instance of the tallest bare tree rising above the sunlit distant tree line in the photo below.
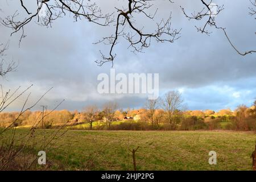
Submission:
M 167 121 L 171 129 L 176 129 L 177 119 L 175 116 L 179 114 L 179 109 L 183 106 L 181 94 L 178 91 L 170 91 L 163 98 L 163 108 L 167 113 Z

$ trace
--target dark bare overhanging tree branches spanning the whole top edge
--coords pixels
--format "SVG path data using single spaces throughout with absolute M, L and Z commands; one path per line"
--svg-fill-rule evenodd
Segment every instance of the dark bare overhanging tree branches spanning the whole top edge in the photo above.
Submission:
M 173 1 L 166 0 L 171 3 Z M 239 51 L 232 41 L 230 40 L 226 29 L 224 27 L 218 27 L 215 20 L 215 16 L 220 14 L 224 10 L 224 6 L 213 5 L 212 1 L 207 0 L 197 0 L 201 2 L 202 9 L 198 13 L 193 13 L 188 15 L 185 12 L 184 7 L 181 7 L 184 15 L 188 19 L 203 21 L 206 19 L 202 27 L 197 27 L 197 30 L 201 33 L 209 35 L 208 27 L 214 27 L 217 30 L 222 30 L 225 37 L 228 39 L 230 45 L 239 53 L 240 55 L 247 55 L 249 53 L 255 53 L 256 51 Z M 249 7 L 250 15 L 255 15 L 255 0 L 250 0 L 251 6 Z M 36 20 L 41 26 L 51 27 L 52 23 L 63 16 L 72 15 L 75 21 L 78 20 L 88 20 L 98 24 L 99 26 L 111 26 L 115 27 L 115 31 L 112 35 L 102 38 L 97 43 L 104 43 L 110 46 L 108 55 L 101 53 L 101 60 L 97 60 L 98 65 L 102 65 L 106 62 L 112 62 L 116 54 L 114 53 L 114 47 L 118 43 L 120 38 L 127 40 L 130 44 L 130 48 L 133 52 L 142 52 L 143 48 L 150 47 L 151 40 L 156 40 L 156 42 L 169 42 L 173 43 L 179 38 L 180 30 L 176 30 L 171 26 L 171 14 L 165 19 L 160 20 L 156 23 L 154 30 L 147 32 L 144 29 L 144 25 L 138 26 L 137 17 L 147 18 L 154 22 L 156 9 L 154 13 L 150 13 L 153 10 L 153 0 L 127 0 L 126 6 L 118 8 L 115 6 L 115 12 L 102 13 L 100 7 L 97 6 L 96 1 L 85 1 L 85 0 L 37 0 L 34 9 L 29 10 L 27 8 L 27 1 L 20 0 L 20 9 L 15 11 L 13 15 L 9 15 L 6 18 L 1 19 L 1 23 L 13 30 L 11 33 L 21 32 L 20 41 L 24 38 L 24 27 L 28 23 Z M 20 13 L 27 14 L 26 18 L 20 18 Z M 42 15 L 43 14 L 43 15 Z

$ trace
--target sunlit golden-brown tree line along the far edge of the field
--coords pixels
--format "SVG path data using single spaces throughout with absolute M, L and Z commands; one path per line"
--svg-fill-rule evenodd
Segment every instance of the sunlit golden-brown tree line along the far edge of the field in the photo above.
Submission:
M 49 113 L 51 112 L 51 113 Z M 9 126 L 19 112 L 0 113 L 0 127 Z M 147 100 L 141 109 L 118 109 L 115 102 L 104 106 L 88 105 L 82 111 L 27 110 L 14 122 L 13 127 L 34 125 L 46 129 L 66 125 L 85 126 L 83 129 L 107 130 L 256 130 L 256 101 L 251 107 L 240 105 L 236 110 L 187 110 L 181 94 L 170 91 L 157 100 Z

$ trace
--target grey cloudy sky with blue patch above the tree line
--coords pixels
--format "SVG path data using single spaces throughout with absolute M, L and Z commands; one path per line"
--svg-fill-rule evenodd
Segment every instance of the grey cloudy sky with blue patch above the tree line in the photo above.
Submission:
M 28 1 L 24 1 L 28 2 Z M 152 42 L 144 53 L 134 54 L 128 44 L 119 40 L 114 48 L 117 73 L 159 73 L 160 96 L 168 90 L 179 90 L 185 104 L 191 110 L 224 108 L 235 109 L 240 104 L 250 106 L 256 98 L 256 54 L 240 56 L 230 46 L 223 32 L 214 29 L 210 36 L 197 32 L 195 22 L 184 17 L 180 5 L 188 13 L 201 9 L 200 1 L 189 0 L 157 1 L 158 18 L 167 18 L 172 11 L 172 27 L 182 28 L 181 37 L 174 43 Z M 126 5 L 126 1 L 97 1 L 103 11 L 114 11 L 114 7 Z M 255 49 L 256 22 L 249 15 L 249 0 L 215 1 L 224 5 L 225 10 L 216 17 L 219 26 L 226 27 L 232 42 L 241 51 Z M 16 1 L 1 1 L 0 17 L 13 14 L 19 9 Z M 32 5 L 28 5 L 31 7 Z M 154 8 L 152 10 L 155 10 Z M 31 10 L 32 11 L 32 10 Z M 152 11 L 154 12 L 154 11 Z M 25 14 L 24 14 L 25 15 Z M 153 31 L 156 22 L 137 19 L 138 26 Z M 146 101 L 144 94 L 99 94 L 97 76 L 110 73 L 111 64 L 98 67 L 94 61 L 100 59 L 100 52 L 109 47 L 92 43 L 113 33 L 114 27 L 99 27 L 86 20 L 74 22 L 69 15 L 57 19 L 52 28 L 38 26 L 32 21 L 24 29 L 26 38 L 19 47 L 19 36 L 10 36 L 9 28 L 0 26 L 0 42 L 10 42 L 5 60 L 14 59 L 19 63 L 17 71 L 6 78 L 0 78 L 5 90 L 25 89 L 33 84 L 28 105 L 53 86 L 51 92 L 39 103 L 53 108 L 65 99 L 59 109 L 81 110 L 86 105 L 101 106 L 116 101 L 122 108 L 139 108 Z M 27 93 L 28 94 L 28 93 Z M 26 95 L 19 98 L 9 110 L 19 110 Z

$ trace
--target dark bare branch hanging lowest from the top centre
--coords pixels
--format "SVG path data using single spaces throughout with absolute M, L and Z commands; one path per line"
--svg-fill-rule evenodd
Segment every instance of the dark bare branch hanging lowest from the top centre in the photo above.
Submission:
M 171 1 L 170 1 L 171 2 Z M 117 9 L 118 16 L 115 25 L 115 34 L 109 37 L 105 37 L 100 40 L 98 43 L 104 42 L 105 44 L 110 44 L 109 56 L 105 56 L 101 51 L 102 60 L 96 61 L 98 65 L 102 65 L 106 62 L 112 62 L 116 54 L 113 54 L 114 46 L 117 44 L 117 40 L 119 37 L 126 39 L 132 48 L 133 52 L 142 52 L 143 48 L 150 47 L 151 39 L 155 39 L 156 42 L 169 42 L 173 43 L 175 40 L 179 39 L 180 30 L 171 28 L 171 14 L 170 16 L 164 20 L 162 19 L 159 23 L 156 23 L 156 30 L 154 33 L 145 33 L 142 28 L 138 28 L 135 26 L 133 22 L 133 14 L 142 14 L 146 18 L 154 19 L 156 11 L 154 14 L 149 14 L 146 10 L 152 7 L 151 3 L 146 1 L 138 0 L 133 1 L 129 0 L 127 9 Z M 121 28 L 122 27 L 122 28 Z M 129 27 L 130 31 L 125 32 L 125 28 Z

